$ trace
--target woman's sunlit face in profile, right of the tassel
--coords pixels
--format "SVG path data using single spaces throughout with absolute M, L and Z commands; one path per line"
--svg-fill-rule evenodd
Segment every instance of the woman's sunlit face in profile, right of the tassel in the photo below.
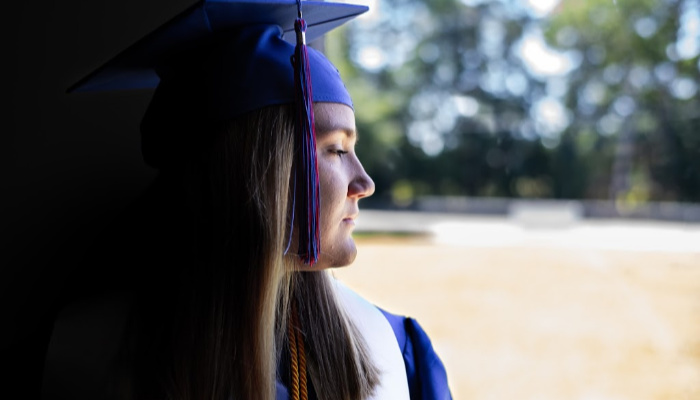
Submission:
M 349 265 L 357 249 L 352 239 L 358 201 L 374 193 L 374 182 L 355 154 L 353 110 L 338 103 L 315 103 L 316 154 L 321 191 L 321 253 L 315 268 Z

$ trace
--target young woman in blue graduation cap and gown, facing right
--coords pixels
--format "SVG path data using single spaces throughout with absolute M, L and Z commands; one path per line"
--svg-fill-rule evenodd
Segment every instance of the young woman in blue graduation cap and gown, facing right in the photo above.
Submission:
M 303 6 L 305 21 L 293 0 L 204 1 L 77 85 L 157 84 L 142 139 L 160 175 L 95 252 L 109 285 L 58 318 L 46 398 L 449 398 L 415 321 L 326 272 L 353 262 L 374 183 L 305 24 L 318 36 L 365 9 Z

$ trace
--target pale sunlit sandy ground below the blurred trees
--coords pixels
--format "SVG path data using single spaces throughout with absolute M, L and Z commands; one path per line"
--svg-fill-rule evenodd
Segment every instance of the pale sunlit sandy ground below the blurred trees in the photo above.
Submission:
M 699 225 L 407 217 L 433 234 L 360 234 L 335 275 L 421 323 L 456 399 L 700 399 Z

